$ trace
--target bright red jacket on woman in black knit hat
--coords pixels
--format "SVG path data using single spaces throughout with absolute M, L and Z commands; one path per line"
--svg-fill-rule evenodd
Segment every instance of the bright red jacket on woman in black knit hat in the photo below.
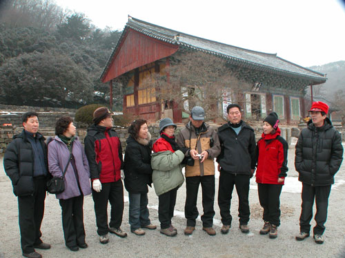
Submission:
M 280 129 L 274 134 L 262 133 L 257 142 L 257 171 L 256 182 L 259 184 L 278 183 L 278 178 L 285 178 L 288 167 L 288 144 L 280 136 Z

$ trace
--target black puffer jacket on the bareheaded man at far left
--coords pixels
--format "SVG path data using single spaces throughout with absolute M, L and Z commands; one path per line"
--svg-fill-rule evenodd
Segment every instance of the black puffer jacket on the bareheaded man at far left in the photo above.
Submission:
M 44 162 L 48 171 L 47 146 L 44 142 L 46 139 L 41 133 L 36 134 L 42 145 Z M 26 196 L 34 193 L 34 153 L 24 130 L 13 136 L 12 142 L 8 144 L 3 156 L 3 167 L 12 181 L 14 195 Z

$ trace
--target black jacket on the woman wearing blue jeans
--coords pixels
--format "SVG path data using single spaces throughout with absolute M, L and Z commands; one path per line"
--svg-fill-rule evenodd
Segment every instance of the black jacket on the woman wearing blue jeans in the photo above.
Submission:
M 149 134 L 149 138 L 146 140 L 135 140 L 132 136 L 126 140 L 124 182 L 129 193 L 148 193 L 148 185 L 151 186 L 152 142 L 150 138 Z

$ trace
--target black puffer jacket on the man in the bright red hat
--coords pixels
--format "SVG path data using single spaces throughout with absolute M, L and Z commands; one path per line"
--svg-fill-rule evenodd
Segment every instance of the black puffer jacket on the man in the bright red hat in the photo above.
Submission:
M 296 144 L 295 169 L 298 180 L 312 186 L 334 184 L 334 175 L 343 160 L 342 138 L 326 118 L 322 127 L 312 120 L 303 129 Z

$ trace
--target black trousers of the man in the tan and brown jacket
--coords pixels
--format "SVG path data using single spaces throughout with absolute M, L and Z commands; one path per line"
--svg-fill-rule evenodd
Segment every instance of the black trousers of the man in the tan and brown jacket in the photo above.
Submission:
M 186 204 L 184 206 L 184 215 L 187 219 L 187 226 L 195 226 L 195 219 L 199 215 L 197 211 L 197 193 L 199 184 L 202 190 L 202 207 L 204 215 L 201 215 L 201 221 L 204 228 L 213 226 L 213 217 L 215 216 L 215 175 L 195 176 L 186 178 Z

